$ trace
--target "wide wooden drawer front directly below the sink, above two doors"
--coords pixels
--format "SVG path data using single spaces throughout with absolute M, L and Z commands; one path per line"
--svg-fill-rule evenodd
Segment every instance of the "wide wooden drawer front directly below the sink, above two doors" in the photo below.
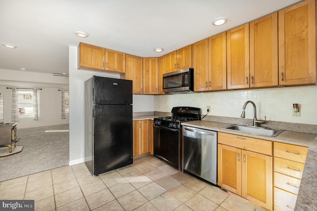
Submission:
M 218 143 L 272 156 L 272 141 L 218 132 Z

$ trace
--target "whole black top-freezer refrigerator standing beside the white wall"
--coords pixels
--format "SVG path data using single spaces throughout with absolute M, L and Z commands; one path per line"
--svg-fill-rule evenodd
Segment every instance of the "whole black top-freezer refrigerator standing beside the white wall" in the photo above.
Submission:
M 85 164 L 92 175 L 133 163 L 132 81 L 85 81 Z

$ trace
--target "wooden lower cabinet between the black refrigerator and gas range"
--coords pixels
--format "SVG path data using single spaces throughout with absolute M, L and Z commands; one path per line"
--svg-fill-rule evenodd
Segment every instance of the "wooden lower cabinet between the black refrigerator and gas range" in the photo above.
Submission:
M 133 157 L 150 152 L 149 120 L 133 121 Z

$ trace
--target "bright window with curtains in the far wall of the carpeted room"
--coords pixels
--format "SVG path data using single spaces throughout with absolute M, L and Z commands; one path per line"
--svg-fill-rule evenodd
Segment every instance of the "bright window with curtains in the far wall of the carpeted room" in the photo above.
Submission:
M 40 92 L 38 90 L 38 108 L 40 116 Z M 33 117 L 33 90 L 18 89 L 19 118 Z

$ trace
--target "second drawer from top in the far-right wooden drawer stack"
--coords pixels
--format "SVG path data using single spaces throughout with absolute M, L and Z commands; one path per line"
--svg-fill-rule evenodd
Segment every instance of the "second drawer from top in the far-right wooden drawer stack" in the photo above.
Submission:
M 274 157 L 274 171 L 301 179 L 304 164 Z

